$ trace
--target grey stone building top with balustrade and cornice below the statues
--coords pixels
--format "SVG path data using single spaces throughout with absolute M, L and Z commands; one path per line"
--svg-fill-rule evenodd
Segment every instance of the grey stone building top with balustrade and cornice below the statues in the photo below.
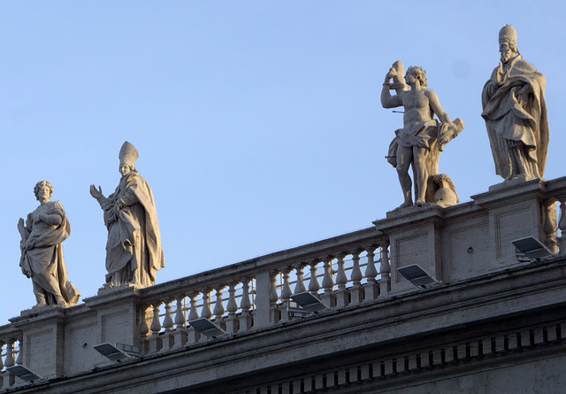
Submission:
M 0 392 L 561 392 L 566 377 L 566 178 L 506 182 L 472 201 L 389 212 L 374 227 L 0 327 Z M 554 255 L 521 262 L 512 240 Z M 436 280 L 417 288 L 411 264 Z M 294 293 L 326 309 L 287 308 Z M 226 335 L 199 335 L 205 318 Z M 105 359 L 93 345 L 140 346 Z

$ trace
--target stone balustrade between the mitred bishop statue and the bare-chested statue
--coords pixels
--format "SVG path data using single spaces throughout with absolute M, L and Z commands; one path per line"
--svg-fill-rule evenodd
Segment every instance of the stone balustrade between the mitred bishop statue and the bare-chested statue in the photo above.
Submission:
M 329 310 L 386 297 L 387 247 L 385 235 L 367 228 L 145 289 L 142 352 L 209 340 L 188 324 L 199 318 L 227 334 L 298 319 L 288 304 L 304 291 L 320 297 Z

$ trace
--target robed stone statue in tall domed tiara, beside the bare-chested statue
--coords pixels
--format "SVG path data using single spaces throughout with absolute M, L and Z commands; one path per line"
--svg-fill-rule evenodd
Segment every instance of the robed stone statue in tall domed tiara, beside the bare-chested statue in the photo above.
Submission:
M 547 166 L 547 80 L 519 54 L 514 27 L 501 28 L 499 51 L 481 95 L 495 171 L 505 181 L 540 178 Z

